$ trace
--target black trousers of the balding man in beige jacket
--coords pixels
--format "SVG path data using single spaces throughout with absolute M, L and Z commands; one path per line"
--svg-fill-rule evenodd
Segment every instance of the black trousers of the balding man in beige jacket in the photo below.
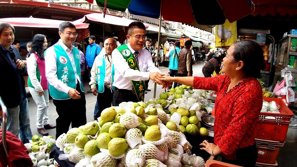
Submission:
M 111 107 L 113 104 L 113 92 L 111 92 L 110 88 L 107 88 L 104 86 L 104 92 L 98 93 L 97 95 L 97 101 L 98 101 L 98 112 L 96 115 L 94 114 L 94 118 L 98 118 L 101 115 L 101 112 Z

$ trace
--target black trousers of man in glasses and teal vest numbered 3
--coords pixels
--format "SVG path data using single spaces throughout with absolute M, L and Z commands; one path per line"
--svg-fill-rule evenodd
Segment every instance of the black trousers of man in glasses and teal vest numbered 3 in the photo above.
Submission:
M 79 127 L 87 123 L 86 97 L 80 90 L 79 83 L 76 90 L 80 92 L 80 99 L 55 100 L 53 99 L 59 117 L 56 119 L 56 139 L 63 133 L 67 133 L 69 126 Z

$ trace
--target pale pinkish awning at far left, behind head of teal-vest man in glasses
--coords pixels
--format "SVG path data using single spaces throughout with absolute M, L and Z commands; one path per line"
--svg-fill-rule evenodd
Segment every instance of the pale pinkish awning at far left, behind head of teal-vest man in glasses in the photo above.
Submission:
M 51 19 L 39 19 L 39 18 L 2 18 L 0 23 L 10 23 L 13 26 L 18 27 L 36 27 L 36 28 L 59 28 L 62 20 L 51 20 Z M 77 29 L 88 28 L 89 25 L 86 23 L 71 22 Z

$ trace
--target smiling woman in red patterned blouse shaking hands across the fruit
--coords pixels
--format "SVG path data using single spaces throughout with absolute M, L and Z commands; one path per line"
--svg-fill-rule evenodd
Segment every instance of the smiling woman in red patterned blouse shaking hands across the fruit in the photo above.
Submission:
M 206 140 L 201 150 L 222 161 L 239 166 L 255 166 L 257 149 L 254 125 L 262 108 L 262 89 L 256 77 L 265 68 L 262 48 L 254 41 L 237 41 L 223 59 L 226 75 L 213 78 L 170 77 L 162 80 L 217 91 L 215 103 L 214 143 Z

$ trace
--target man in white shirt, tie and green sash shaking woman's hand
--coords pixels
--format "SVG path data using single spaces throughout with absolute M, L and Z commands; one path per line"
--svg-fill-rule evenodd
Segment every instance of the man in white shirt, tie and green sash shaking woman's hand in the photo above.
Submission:
M 114 105 L 124 101 L 144 101 L 144 81 L 153 82 L 168 88 L 170 83 L 161 81 L 161 71 L 154 65 L 150 52 L 143 48 L 145 42 L 145 26 L 139 21 L 128 26 L 127 39 L 129 43 L 112 52 L 114 63 Z

